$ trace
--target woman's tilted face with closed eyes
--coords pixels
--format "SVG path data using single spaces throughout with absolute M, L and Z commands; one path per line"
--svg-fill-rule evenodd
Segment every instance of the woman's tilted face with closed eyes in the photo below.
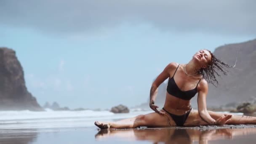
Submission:
M 211 61 L 211 53 L 208 50 L 200 50 L 193 56 L 193 59 L 198 61 L 202 67 L 206 67 Z

